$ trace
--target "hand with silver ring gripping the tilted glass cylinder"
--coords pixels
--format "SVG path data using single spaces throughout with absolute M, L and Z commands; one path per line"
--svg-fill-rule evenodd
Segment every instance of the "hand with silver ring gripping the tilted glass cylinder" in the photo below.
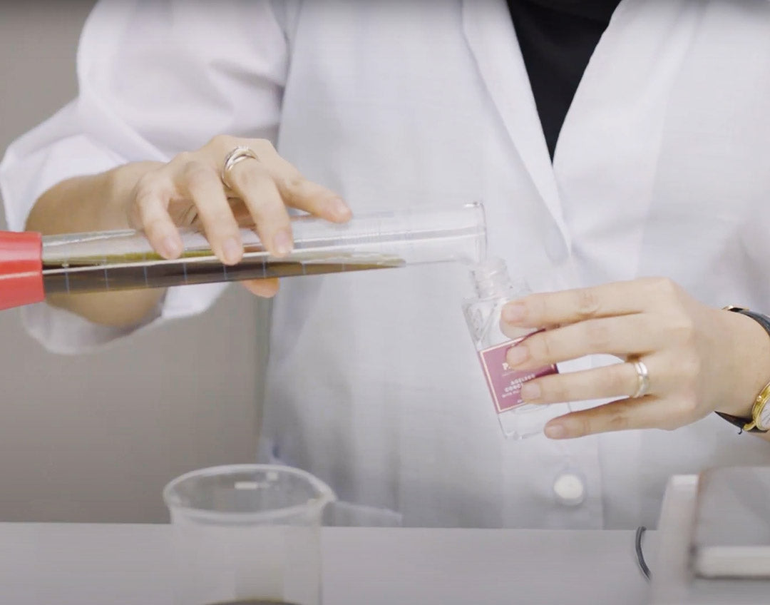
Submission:
M 249 147 L 259 160 L 236 163 L 227 174 L 230 188 L 220 174 L 227 154 L 236 146 Z M 287 207 L 336 223 L 351 217 L 350 208 L 336 193 L 307 180 L 266 139 L 219 135 L 199 150 L 180 153 L 139 177 L 128 213 L 131 227 L 144 230 L 163 257 L 179 257 L 178 227 L 196 224 L 219 260 L 232 265 L 243 257 L 239 221 L 244 219 L 256 226 L 270 254 L 281 257 L 291 252 Z M 243 284 L 259 296 L 273 296 L 278 290 L 274 279 Z

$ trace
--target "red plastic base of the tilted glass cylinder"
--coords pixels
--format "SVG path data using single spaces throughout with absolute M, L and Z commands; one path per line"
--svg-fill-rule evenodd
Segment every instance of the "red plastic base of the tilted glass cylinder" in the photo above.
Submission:
M 42 237 L 25 231 L 0 231 L 0 309 L 41 302 Z

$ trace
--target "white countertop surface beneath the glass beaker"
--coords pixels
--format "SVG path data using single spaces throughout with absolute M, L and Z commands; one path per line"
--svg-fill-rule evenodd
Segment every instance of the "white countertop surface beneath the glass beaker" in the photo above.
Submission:
M 0 523 L 0 603 L 170 605 L 170 534 Z M 325 605 L 648 602 L 632 531 L 324 528 L 323 556 Z

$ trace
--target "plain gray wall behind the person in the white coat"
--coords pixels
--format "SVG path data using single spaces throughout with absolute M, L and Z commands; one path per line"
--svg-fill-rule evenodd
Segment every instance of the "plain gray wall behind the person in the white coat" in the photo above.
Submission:
M 75 96 L 92 5 L 0 8 L 0 149 Z M 0 312 L 0 521 L 165 521 L 169 479 L 253 459 L 265 316 L 231 287 L 201 318 L 63 357 Z

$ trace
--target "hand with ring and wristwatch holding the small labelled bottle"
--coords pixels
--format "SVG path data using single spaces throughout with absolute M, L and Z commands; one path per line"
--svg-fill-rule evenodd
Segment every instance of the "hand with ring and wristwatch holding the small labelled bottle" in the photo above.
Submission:
M 699 303 L 674 282 L 644 278 L 531 294 L 503 309 L 503 331 L 546 328 L 508 351 L 516 369 L 591 354 L 626 363 L 547 375 L 521 389 L 534 404 L 619 398 L 554 418 L 545 433 L 568 439 L 624 429 L 677 429 L 710 412 L 748 417 L 770 379 L 770 339 L 752 318 Z M 648 368 L 646 395 L 634 398 L 634 361 Z

